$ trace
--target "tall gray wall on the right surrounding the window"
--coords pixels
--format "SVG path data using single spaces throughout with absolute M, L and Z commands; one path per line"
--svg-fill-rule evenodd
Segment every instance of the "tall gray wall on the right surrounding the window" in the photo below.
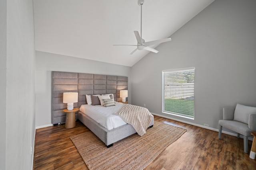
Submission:
M 222 107 L 256 106 L 256 1 L 215 0 L 132 66 L 132 104 L 218 129 Z M 195 119 L 162 113 L 162 70 L 195 67 Z

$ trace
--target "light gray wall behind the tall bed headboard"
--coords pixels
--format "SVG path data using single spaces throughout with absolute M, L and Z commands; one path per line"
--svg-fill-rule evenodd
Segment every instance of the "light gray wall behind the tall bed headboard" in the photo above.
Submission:
M 36 51 L 36 128 L 52 123 L 51 71 L 127 76 L 130 102 L 131 67 Z

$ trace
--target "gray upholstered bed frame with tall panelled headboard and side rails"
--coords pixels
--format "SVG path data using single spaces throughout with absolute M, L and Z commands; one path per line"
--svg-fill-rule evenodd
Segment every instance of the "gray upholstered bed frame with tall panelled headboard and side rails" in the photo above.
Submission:
M 78 92 L 78 103 L 74 103 L 74 107 L 80 107 L 87 104 L 86 94 L 114 94 L 114 100 L 120 102 L 119 91 L 127 89 L 128 77 L 125 76 L 52 71 L 52 124 L 66 121 L 66 113 L 62 111 L 67 107 L 62 103 L 64 92 Z M 108 130 L 80 111 L 76 113 L 76 119 L 84 123 L 107 147 L 136 133 L 130 124 Z M 149 126 L 153 124 L 154 117 Z

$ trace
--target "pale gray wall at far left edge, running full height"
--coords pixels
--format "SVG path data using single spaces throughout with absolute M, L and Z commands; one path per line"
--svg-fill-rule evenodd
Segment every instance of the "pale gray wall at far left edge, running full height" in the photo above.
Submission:
M 32 0 L 0 1 L 0 169 L 30 170 L 35 133 Z

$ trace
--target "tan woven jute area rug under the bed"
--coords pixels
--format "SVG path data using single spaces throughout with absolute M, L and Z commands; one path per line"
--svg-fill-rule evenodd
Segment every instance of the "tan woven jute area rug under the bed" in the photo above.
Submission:
M 186 129 L 155 121 L 140 137 L 137 133 L 110 148 L 91 131 L 70 139 L 90 170 L 142 170 Z

